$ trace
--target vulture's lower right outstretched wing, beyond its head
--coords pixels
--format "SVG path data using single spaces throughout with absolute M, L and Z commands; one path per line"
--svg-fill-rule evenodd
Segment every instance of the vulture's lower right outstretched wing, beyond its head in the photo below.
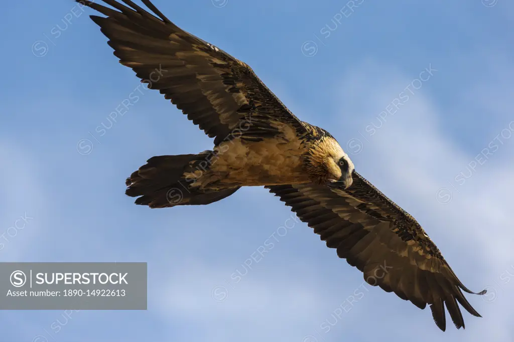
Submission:
M 481 317 L 461 290 L 473 292 L 458 280 L 416 220 L 357 172 L 346 190 L 322 184 L 266 187 L 328 247 L 337 249 L 340 258 L 362 271 L 366 282 L 420 309 L 429 304 L 439 329 L 446 329 L 444 305 L 457 329 L 464 327 L 457 302 Z

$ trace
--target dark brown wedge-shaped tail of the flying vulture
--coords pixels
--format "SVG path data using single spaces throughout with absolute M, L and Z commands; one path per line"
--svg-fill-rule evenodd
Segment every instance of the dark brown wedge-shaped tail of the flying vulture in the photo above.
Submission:
M 210 204 L 228 197 L 240 187 L 222 190 L 198 189 L 189 187 L 191 181 L 183 177 L 185 172 L 208 167 L 207 157 L 211 153 L 204 151 L 197 155 L 152 157 L 126 179 L 125 194 L 131 197 L 140 196 L 135 203 L 152 208 Z

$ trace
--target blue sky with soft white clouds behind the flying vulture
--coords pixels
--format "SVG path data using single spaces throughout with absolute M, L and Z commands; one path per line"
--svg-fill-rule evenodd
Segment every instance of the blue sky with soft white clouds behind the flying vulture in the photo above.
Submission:
M 363 285 L 263 188 L 208 206 L 133 204 L 124 180 L 146 159 L 197 153 L 212 141 L 143 87 L 100 136 L 96 127 L 111 126 L 107 116 L 138 79 L 89 20 L 92 10 L 30 0 L 0 14 L 0 234 L 31 218 L 10 231 L 0 261 L 146 261 L 149 302 L 147 311 L 79 311 L 67 321 L 63 311 L 1 311 L 2 340 L 512 339 L 514 4 L 154 3 L 248 63 L 302 120 L 330 131 L 358 172 L 424 226 L 466 286 L 489 289 L 468 296 L 483 318 L 463 313 L 466 330 L 448 322 L 440 332 L 429 309 Z M 430 77 L 420 75 L 426 69 Z M 396 111 L 395 99 L 403 99 Z M 85 155 L 82 139 L 91 142 Z M 285 224 L 287 234 L 245 269 Z M 350 306 L 357 289 L 363 296 Z M 57 320 L 59 332 L 50 328 Z

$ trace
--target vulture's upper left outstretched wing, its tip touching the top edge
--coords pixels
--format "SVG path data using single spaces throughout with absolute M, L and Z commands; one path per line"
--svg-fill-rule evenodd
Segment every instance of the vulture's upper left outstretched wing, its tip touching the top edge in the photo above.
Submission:
M 148 0 L 155 15 L 132 1 L 103 0 L 111 8 L 76 0 L 107 17 L 91 15 L 120 63 L 149 88 L 199 125 L 217 145 L 241 137 L 259 141 L 280 132 L 277 122 L 305 134 L 302 122 L 245 63 L 168 20 Z M 280 126 L 280 125 L 279 125 Z

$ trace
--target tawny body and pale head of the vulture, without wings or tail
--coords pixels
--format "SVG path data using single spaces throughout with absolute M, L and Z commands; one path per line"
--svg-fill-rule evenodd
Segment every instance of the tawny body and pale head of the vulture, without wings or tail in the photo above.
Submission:
M 347 158 L 339 143 L 319 127 L 308 127 L 308 133 L 300 137 L 296 131 L 280 122 L 272 138 L 255 141 L 241 137 L 214 146 L 207 163 L 199 165 L 184 176 L 192 187 L 223 189 L 234 186 L 262 186 L 280 184 L 324 183 L 334 176 L 326 161 Z M 323 132 L 324 134 L 319 134 Z M 349 158 L 348 158 L 349 160 Z M 316 172 L 319 166 L 323 171 Z

